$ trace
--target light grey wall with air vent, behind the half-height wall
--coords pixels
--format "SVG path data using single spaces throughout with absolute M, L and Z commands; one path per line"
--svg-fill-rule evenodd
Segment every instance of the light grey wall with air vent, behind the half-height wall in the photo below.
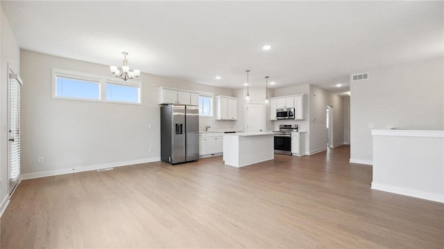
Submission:
M 444 129 L 443 57 L 368 71 L 350 82 L 350 162 L 371 164 L 375 128 Z

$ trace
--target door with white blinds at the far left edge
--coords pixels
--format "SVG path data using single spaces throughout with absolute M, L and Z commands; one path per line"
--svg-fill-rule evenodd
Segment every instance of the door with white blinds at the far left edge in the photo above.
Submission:
M 10 73 L 8 85 L 8 170 L 9 191 L 15 190 L 20 178 L 20 88 L 22 80 Z

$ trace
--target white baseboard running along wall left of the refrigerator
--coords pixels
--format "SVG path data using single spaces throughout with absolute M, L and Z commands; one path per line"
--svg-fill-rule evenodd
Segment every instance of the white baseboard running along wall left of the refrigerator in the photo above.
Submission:
M 40 178 L 40 177 L 46 177 L 46 176 L 58 176 L 61 174 L 71 174 L 71 173 L 76 173 L 76 172 L 85 172 L 85 171 L 91 171 L 91 170 L 96 170 L 96 169 L 106 169 L 109 167 L 121 167 L 121 166 L 136 165 L 139 163 L 151 163 L 151 162 L 157 162 L 157 161 L 160 161 L 160 157 L 129 160 L 129 161 L 117 162 L 117 163 L 104 163 L 101 165 L 89 165 L 89 166 L 74 167 L 74 168 L 69 168 L 69 169 L 55 169 L 55 170 L 49 170 L 46 172 L 34 172 L 34 173 L 22 174 L 22 180 L 32 179 L 32 178 Z

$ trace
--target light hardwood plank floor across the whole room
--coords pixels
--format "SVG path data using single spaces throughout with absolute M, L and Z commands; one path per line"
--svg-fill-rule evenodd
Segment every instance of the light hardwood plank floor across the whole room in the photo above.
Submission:
M 444 205 L 370 190 L 342 146 L 243 168 L 220 156 L 22 181 L 1 248 L 443 248 Z

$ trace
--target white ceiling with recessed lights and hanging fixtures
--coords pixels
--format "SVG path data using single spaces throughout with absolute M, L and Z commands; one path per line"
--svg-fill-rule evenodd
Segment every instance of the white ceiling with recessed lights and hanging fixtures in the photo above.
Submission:
M 350 73 L 443 57 L 443 1 L 1 4 L 20 48 L 116 66 L 128 51 L 131 68 L 230 89 L 250 69 L 251 87 L 345 93 Z

